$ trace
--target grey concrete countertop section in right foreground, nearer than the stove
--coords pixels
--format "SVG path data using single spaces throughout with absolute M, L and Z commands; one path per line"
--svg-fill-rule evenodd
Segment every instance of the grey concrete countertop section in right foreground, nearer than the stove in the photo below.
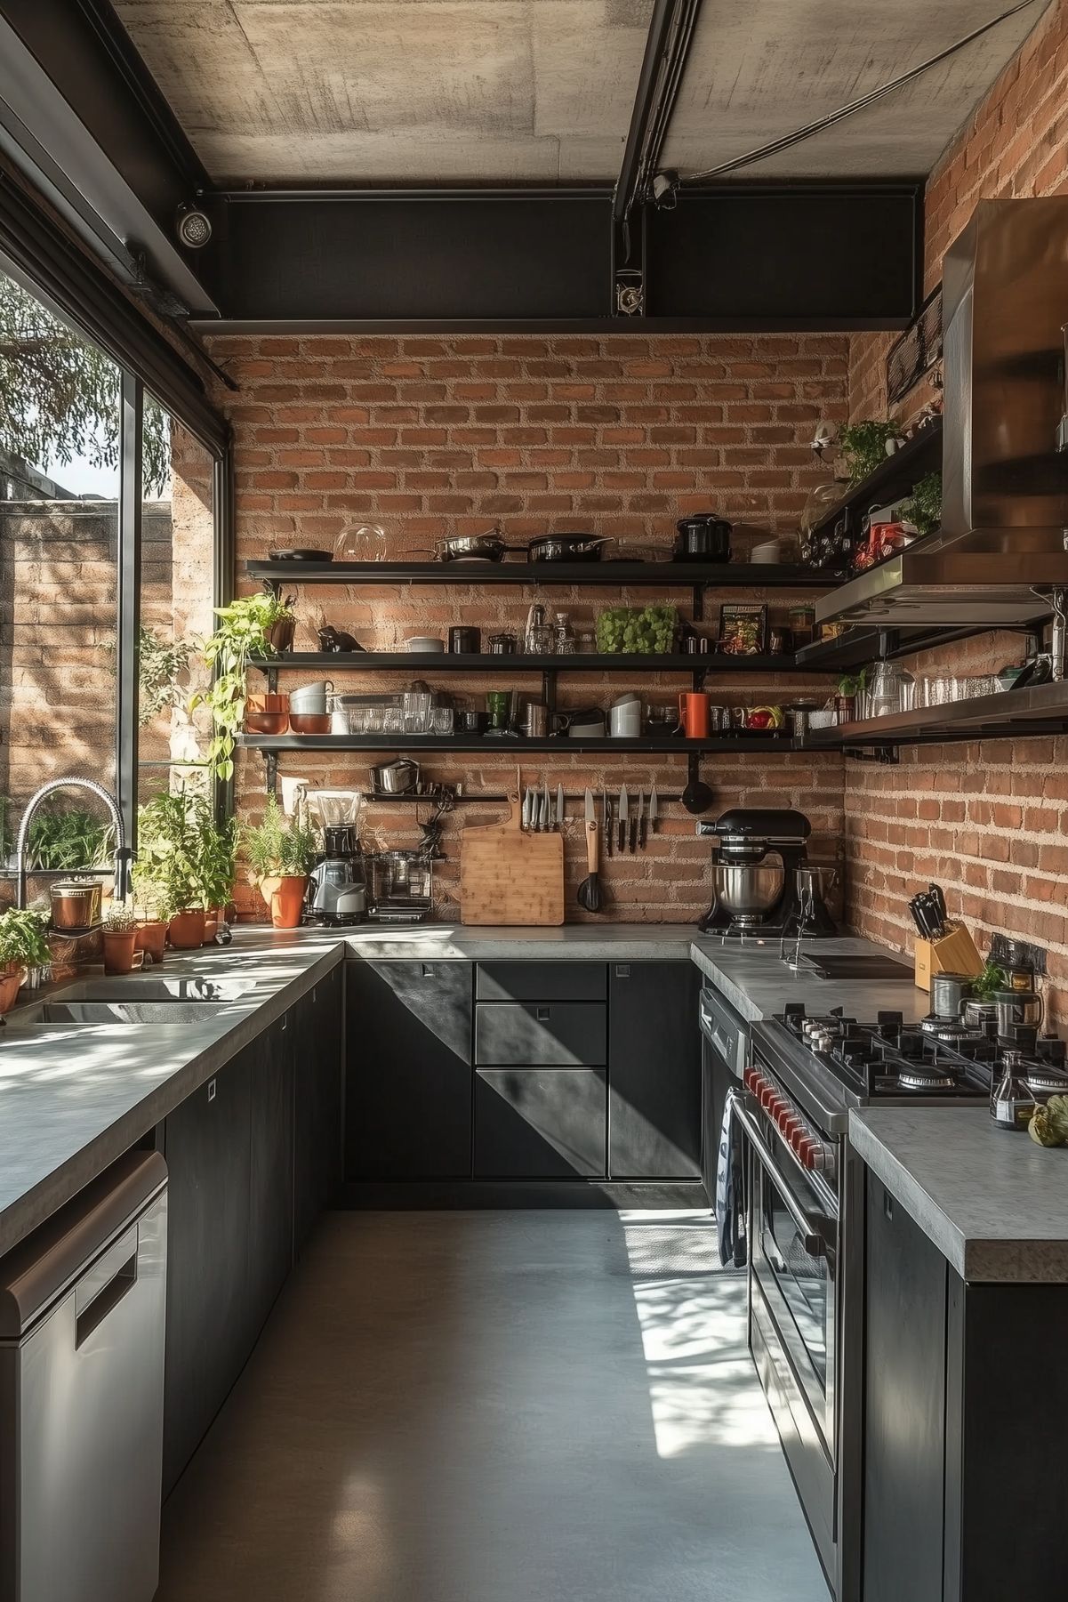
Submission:
M 1068 1147 L 998 1129 L 982 1107 L 866 1107 L 849 1133 L 961 1278 L 1068 1282 Z

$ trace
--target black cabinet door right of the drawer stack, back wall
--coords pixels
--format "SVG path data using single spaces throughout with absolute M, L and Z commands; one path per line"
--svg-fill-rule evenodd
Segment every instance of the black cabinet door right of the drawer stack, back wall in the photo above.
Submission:
M 608 964 L 612 1179 L 700 1179 L 698 992 L 692 963 Z

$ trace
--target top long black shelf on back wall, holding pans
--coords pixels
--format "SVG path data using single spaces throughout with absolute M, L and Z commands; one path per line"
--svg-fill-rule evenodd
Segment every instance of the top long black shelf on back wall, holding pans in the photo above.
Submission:
M 247 562 L 272 585 L 589 585 L 613 588 L 823 590 L 829 569 L 775 562 Z

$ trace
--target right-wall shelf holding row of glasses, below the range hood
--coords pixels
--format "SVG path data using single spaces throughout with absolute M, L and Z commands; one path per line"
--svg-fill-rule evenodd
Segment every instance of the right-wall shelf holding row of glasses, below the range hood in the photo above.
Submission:
M 1068 682 L 998 690 L 943 706 L 917 706 L 887 718 L 865 718 L 834 729 L 810 729 L 809 750 L 1007 740 L 1068 731 Z

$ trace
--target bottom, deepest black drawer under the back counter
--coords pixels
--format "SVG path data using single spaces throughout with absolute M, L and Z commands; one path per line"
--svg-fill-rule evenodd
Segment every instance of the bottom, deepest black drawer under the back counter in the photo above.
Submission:
M 604 1069 L 479 1069 L 477 1179 L 600 1179 L 608 1129 Z

